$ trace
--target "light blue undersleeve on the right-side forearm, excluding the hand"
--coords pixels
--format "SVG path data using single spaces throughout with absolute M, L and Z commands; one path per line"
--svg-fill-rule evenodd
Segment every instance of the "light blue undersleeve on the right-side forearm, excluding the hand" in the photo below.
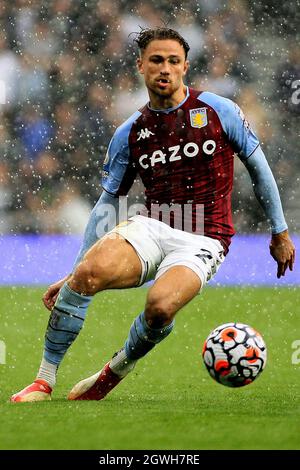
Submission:
M 271 225 L 272 233 L 288 228 L 285 221 L 277 184 L 264 152 L 259 146 L 245 161 L 253 184 L 255 196 Z

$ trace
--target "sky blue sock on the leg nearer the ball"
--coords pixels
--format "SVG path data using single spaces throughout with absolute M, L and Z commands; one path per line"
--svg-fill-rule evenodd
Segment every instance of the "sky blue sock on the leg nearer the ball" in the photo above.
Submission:
M 174 327 L 174 320 L 162 328 L 150 328 L 142 312 L 131 325 L 125 352 L 128 359 L 139 359 L 145 356 L 157 343 L 166 338 Z

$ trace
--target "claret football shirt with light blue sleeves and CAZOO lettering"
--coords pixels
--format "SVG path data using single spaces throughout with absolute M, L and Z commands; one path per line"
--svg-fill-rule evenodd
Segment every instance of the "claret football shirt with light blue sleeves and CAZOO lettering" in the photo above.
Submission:
M 114 196 L 126 195 L 139 174 L 148 216 L 151 208 L 153 216 L 153 207 L 190 207 L 195 225 L 201 207 L 203 234 L 220 240 L 227 251 L 234 234 L 234 154 L 246 160 L 258 145 L 235 103 L 187 88 L 178 106 L 154 110 L 147 104 L 116 130 L 104 161 L 102 186 Z

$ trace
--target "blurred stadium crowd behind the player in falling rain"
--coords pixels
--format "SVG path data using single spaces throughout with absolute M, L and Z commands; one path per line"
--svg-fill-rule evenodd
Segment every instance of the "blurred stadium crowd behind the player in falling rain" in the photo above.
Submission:
M 190 43 L 186 82 L 242 107 L 299 229 L 295 4 L 0 0 L 0 234 L 83 232 L 108 142 L 147 102 L 131 33 L 163 25 Z M 238 162 L 235 171 L 238 230 L 265 230 L 248 175 Z M 130 198 L 141 189 L 137 182 Z

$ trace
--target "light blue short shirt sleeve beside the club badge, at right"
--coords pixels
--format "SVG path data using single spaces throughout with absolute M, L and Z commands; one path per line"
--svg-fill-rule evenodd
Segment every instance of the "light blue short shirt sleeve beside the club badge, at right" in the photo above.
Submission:
M 259 146 L 259 141 L 239 106 L 228 98 L 207 91 L 201 93 L 198 99 L 217 113 L 225 134 L 241 160 L 250 157 Z

